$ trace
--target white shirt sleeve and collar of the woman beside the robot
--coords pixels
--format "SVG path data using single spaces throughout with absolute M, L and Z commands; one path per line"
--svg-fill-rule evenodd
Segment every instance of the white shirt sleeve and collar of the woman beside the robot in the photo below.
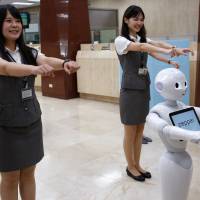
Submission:
M 134 40 L 135 42 L 140 42 L 141 37 L 139 35 L 137 35 L 137 37 L 130 35 L 130 38 Z M 115 48 L 116 48 L 117 53 L 119 55 L 127 54 L 128 53 L 127 47 L 131 42 L 132 41 L 128 40 L 127 38 L 123 36 L 118 36 L 115 39 Z M 147 43 L 150 43 L 150 42 L 151 42 L 151 39 L 147 38 Z

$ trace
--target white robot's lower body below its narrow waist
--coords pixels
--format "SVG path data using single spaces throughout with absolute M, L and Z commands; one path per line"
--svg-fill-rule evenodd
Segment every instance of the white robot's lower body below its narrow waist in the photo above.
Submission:
M 193 171 L 192 160 L 186 152 L 180 154 L 166 152 L 160 159 L 163 200 L 187 200 Z

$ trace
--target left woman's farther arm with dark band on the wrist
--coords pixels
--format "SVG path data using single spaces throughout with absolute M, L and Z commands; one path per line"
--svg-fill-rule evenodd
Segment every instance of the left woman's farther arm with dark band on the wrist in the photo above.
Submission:
M 76 72 L 80 67 L 78 64 L 74 61 L 68 61 L 64 62 L 64 60 L 54 57 L 47 57 L 45 55 L 39 54 L 37 57 L 37 64 L 48 64 L 52 66 L 55 70 L 61 70 L 64 68 L 64 70 L 68 73 L 74 73 Z

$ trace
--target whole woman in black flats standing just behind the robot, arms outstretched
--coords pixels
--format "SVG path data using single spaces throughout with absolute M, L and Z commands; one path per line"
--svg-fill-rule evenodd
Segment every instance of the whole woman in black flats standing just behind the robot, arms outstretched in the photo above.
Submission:
M 176 48 L 146 38 L 144 19 L 145 15 L 140 7 L 129 6 L 123 16 L 121 35 L 115 39 L 123 70 L 120 116 L 124 125 L 124 152 L 128 164 L 126 172 L 137 181 L 151 178 L 151 173 L 140 165 L 141 141 L 150 100 L 150 79 L 146 66 L 148 54 L 178 68 L 178 63 L 160 56 L 159 53 L 173 57 L 191 52 L 187 48 Z

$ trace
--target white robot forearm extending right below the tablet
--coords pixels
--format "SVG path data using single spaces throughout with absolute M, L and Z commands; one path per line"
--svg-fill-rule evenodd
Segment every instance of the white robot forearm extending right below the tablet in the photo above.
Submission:
M 200 141 L 200 131 L 190 131 L 176 126 L 165 126 L 163 134 L 173 140 L 188 140 L 195 143 Z

